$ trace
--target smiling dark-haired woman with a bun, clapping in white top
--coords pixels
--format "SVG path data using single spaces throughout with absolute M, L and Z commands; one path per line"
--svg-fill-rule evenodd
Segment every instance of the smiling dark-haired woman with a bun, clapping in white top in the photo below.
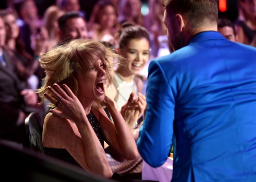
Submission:
M 124 24 L 126 26 L 126 24 Z M 139 73 L 149 59 L 150 39 L 148 31 L 142 26 L 130 24 L 121 30 L 117 52 L 125 59 L 119 60 L 109 86 L 111 96 L 117 102 L 122 116 L 133 133 L 134 140 L 146 107 L 145 95 L 141 94 L 143 81 Z M 108 156 L 109 164 L 117 177 L 141 178 L 142 158 L 135 160 L 117 160 L 114 155 Z

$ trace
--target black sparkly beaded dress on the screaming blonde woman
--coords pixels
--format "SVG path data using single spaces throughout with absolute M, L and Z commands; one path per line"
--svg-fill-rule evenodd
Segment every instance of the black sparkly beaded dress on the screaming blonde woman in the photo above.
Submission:
M 96 116 L 93 114 L 92 111 L 90 111 L 90 113 L 86 116 L 104 149 L 104 138 L 103 138 L 102 131 L 100 129 L 100 123 L 98 122 L 98 119 L 96 118 Z M 70 164 L 80 166 L 66 149 L 55 149 L 55 148 L 44 147 L 44 151 L 45 151 L 45 154 L 48 156 L 52 156 L 64 162 L 68 162 Z

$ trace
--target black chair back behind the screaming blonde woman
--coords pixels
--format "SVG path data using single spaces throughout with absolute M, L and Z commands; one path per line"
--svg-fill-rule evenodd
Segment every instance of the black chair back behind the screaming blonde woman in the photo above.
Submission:
M 31 112 L 25 119 L 25 137 L 23 147 L 33 149 L 38 153 L 44 153 L 43 149 L 43 127 L 38 113 Z

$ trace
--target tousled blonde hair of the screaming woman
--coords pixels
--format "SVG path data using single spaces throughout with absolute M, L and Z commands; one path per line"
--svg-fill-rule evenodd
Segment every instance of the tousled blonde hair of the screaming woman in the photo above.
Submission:
M 91 66 L 100 59 L 104 63 L 104 70 L 106 71 L 106 78 L 110 78 L 111 70 L 108 68 L 110 57 L 119 57 L 115 55 L 113 49 L 105 47 L 102 43 L 87 39 L 71 40 L 67 44 L 58 46 L 40 57 L 41 67 L 45 69 L 46 77 L 44 78 L 44 85 L 37 90 L 37 93 L 44 101 L 44 93 L 54 97 L 47 89 L 57 83 L 63 88 L 65 83 L 72 92 L 78 96 L 79 85 L 77 81 L 77 71 L 81 70 L 86 77 L 87 72 Z M 53 87 L 52 87 L 53 88 Z M 65 90 L 65 89 L 64 89 Z M 58 98 L 56 98 L 57 100 Z M 52 108 L 55 105 L 50 103 L 48 107 Z M 95 102 L 93 107 L 100 107 L 100 104 Z

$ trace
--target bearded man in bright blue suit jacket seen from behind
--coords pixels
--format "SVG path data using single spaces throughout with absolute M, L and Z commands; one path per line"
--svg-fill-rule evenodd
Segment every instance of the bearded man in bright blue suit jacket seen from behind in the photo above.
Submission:
M 175 182 L 256 182 L 256 48 L 217 32 L 216 0 L 168 0 L 173 53 L 151 61 L 137 147 Z

